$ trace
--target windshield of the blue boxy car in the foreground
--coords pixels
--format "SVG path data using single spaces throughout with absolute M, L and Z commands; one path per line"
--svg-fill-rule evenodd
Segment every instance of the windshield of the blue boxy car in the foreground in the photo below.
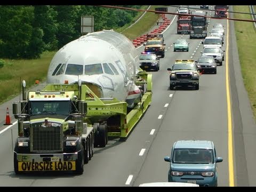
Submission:
M 174 149 L 173 163 L 212 164 L 212 149 Z

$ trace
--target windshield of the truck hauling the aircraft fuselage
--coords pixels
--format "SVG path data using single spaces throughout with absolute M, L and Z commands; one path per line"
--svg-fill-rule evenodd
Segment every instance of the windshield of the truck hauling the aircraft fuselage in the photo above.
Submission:
M 68 115 L 69 101 L 30 101 L 30 115 Z

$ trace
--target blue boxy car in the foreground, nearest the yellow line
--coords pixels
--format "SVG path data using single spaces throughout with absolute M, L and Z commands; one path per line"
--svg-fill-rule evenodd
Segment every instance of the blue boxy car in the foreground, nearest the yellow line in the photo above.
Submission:
M 212 141 L 181 140 L 172 147 L 171 157 L 164 157 L 170 162 L 169 182 L 195 183 L 204 187 L 217 187 L 217 157 Z

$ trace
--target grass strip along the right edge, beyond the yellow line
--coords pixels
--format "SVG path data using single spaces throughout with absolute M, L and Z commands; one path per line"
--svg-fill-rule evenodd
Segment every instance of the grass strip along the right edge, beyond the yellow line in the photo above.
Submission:
M 234 6 L 236 12 L 250 13 L 248 5 Z M 235 13 L 237 19 L 252 20 L 249 14 Z M 253 22 L 235 21 L 235 34 L 237 38 L 237 47 L 239 60 L 242 69 L 242 75 L 245 88 L 248 92 L 251 102 L 254 118 L 256 117 L 256 33 L 253 28 Z

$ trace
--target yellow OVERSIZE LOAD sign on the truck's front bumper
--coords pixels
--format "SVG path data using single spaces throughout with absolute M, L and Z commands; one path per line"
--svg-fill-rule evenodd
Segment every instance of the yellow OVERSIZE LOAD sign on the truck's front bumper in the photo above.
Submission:
M 76 162 L 18 162 L 18 171 L 75 171 Z

